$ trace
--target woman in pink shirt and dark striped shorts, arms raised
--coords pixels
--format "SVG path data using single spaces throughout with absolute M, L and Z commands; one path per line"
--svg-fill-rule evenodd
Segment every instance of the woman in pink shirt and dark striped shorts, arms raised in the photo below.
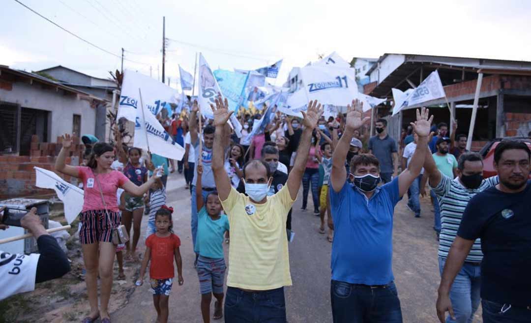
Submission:
M 63 148 L 57 156 L 55 170 L 83 181 L 84 202 L 79 216 L 79 239 L 87 270 L 85 280 L 90 302 L 90 314 L 83 319 L 83 323 L 93 322 L 98 317 L 101 317 L 101 323 L 109 323 L 108 304 L 113 286 L 113 263 L 116 253 L 116 246 L 112 243 L 112 231 L 120 225 L 121 220 L 116 191 L 123 188 L 131 195 L 142 196 L 161 174 L 153 172 L 147 182 L 140 187 L 136 186 L 122 172 L 110 168 L 114 161 L 114 147 L 107 143 L 94 145 L 88 167 L 66 165 L 66 153 L 71 146 L 72 137 L 64 135 Z M 98 309 L 98 272 L 101 278 L 101 309 Z

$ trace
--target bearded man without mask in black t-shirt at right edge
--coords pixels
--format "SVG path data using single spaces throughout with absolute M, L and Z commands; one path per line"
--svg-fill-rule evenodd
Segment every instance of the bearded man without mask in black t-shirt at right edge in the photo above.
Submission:
M 531 151 L 526 143 L 502 140 L 494 150 L 500 183 L 470 200 L 452 243 L 439 286 L 441 322 L 453 317 L 450 286 L 476 238 L 481 238 L 481 297 L 484 323 L 531 322 Z

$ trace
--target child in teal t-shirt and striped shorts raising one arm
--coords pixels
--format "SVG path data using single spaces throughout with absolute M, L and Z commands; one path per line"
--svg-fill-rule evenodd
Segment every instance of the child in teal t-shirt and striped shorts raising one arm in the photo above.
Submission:
M 203 322 L 210 322 L 210 302 L 212 294 L 216 297 L 213 319 L 223 317 L 223 284 L 225 281 L 225 259 L 223 254 L 223 239 L 225 231 L 229 230 L 229 220 L 221 214 L 222 206 L 218 192 L 212 191 L 207 195 L 207 203 L 203 202 L 201 177 L 203 166 L 197 165 L 197 179 L 195 194 L 198 208 L 198 234 L 194 251 L 199 254 L 196 270 L 199 276 L 201 291 L 201 315 Z

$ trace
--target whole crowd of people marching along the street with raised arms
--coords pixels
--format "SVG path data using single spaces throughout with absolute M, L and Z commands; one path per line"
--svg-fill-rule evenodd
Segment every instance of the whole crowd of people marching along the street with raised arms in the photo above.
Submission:
M 167 177 L 175 170 L 184 172 L 191 194 L 204 322 L 222 317 L 226 322 L 286 322 L 292 206 L 301 185 L 301 211 L 311 192 L 319 233 L 332 243 L 333 321 L 401 322 L 392 272 L 393 214 L 407 193 L 408 209 L 421 217 L 419 197 L 427 196 L 426 184 L 439 240 L 439 320 L 472 322 L 481 302 L 484 322 L 531 321 L 531 219 L 525 216 L 531 152 L 525 143 L 503 140 L 496 146 L 498 176 L 484 179 L 481 155 L 466 150 L 466 135 L 456 137 L 457 121 L 447 137 L 448 125 L 433 127 L 424 108 L 397 143 L 386 119 L 375 120 L 376 134 L 369 136 L 369 118 L 362 117 L 357 100 L 345 114 L 328 119 L 315 101 L 303 118 L 275 112 L 264 131 L 252 137 L 262 115 L 240 111 L 241 138 L 228 125 L 234 112 L 227 101 L 216 98 L 211 107 L 210 120 L 200 119 L 196 102 L 189 113 L 170 117 L 164 109 L 158 115 L 185 147 L 182 161 L 124 145 L 117 131 L 114 145 L 95 144 L 83 165 L 74 167 L 65 164 L 72 138 L 64 136 L 55 170 L 79 178 L 84 189 L 79 236 L 91 312 L 83 323 L 110 322 L 115 255 L 118 279 L 124 279 L 123 261 L 140 261 L 139 244 L 145 244 L 145 253 L 136 284 L 143 284 L 149 266 L 157 322 L 168 320 L 174 262 L 178 284 L 184 284 L 181 239 L 173 232 L 174 210 L 166 205 Z M 149 214 L 145 242 L 140 239 L 144 213 Z M 113 231 L 119 225 L 133 232 L 131 241 L 116 245 Z

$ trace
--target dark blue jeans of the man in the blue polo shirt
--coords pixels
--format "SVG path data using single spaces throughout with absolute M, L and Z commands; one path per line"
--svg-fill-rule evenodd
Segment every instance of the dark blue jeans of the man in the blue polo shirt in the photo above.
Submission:
M 332 280 L 333 323 L 401 323 L 402 310 L 395 283 L 385 287 Z

